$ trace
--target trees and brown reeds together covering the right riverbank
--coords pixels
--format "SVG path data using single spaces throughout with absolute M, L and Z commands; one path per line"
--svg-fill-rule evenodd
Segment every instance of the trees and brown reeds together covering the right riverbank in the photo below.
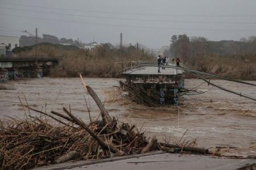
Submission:
M 205 37 L 174 35 L 165 55 L 180 57 L 192 69 L 230 76 L 237 79 L 256 78 L 256 37 L 240 41 L 210 41 Z

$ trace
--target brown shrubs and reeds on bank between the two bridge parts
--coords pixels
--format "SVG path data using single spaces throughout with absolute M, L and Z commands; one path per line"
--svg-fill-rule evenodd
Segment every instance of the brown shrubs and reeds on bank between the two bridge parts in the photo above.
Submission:
M 40 44 L 30 50 L 18 53 L 20 56 L 61 56 L 59 65 L 51 69 L 51 76 L 86 76 L 115 77 L 119 70 L 130 67 L 130 63 L 115 63 L 124 61 L 148 61 L 154 57 L 144 49 L 133 45 L 123 46 L 122 49 L 109 48 L 99 45 L 92 50 L 63 49 L 55 44 Z

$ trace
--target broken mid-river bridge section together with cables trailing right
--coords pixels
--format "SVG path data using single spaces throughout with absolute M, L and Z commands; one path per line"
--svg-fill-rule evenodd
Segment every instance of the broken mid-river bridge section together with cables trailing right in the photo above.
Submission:
M 126 82 L 124 83 L 120 81 L 121 86 L 129 92 L 131 99 L 136 101 L 138 104 L 150 106 L 159 104 L 178 105 L 179 93 L 184 92 L 184 94 L 186 94 L 186 91 L 189 91 L 184 88 L 185 71 L 208 83 L 208 86 L 211 85 L 213 87 L 219 88 L 222 91 L 226 91 L 234 95 L 239 95 L 241 97 L 245 97 L 246 99 L 256 101 L 255 97 L 242 94 L 241 92 L 232 91 L 228 88 L 214 84 L 210 82 L 210 80 L 207 80 L 204 76 L 218 78 L 235 83 L 242 83 L 249 86 L 256 86 L 254 83 L 228 78 L 216 74 L 204 73 L 202 71 L 189 69 L 184 65 L 181 65 L 181 67 L 176 67 L 174 64 L 170 63 L 168 65 L 162 66 L 164 69 L 161 73 L 158 73 L 156 72 L 157 66 L 158 65 L 154 63 L 137 62 L 136 66 L 131 65 L 129 69 L 124 69 L 125 71 L 123 71 L 122 75 L 126 78 Z

